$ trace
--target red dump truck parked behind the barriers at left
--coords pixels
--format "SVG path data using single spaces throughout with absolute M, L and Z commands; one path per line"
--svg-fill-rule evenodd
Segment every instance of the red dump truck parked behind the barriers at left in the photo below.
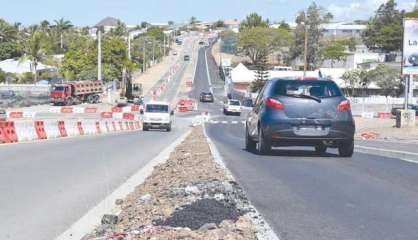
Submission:
M 67 106 L 80 103 L 98 103 L 102 93 L 102 81 L 75 81 L 54 85 L 50 98 L 54 105 Z

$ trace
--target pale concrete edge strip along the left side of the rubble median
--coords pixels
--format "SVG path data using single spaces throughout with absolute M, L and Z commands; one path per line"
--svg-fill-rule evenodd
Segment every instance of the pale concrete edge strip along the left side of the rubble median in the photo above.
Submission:
M 133 192 L 136 186 L 142 184 L 145 179 L 152 174 L 154 166 L 164 163 L 170 156 L 170 153 L 191 133 L 187 131 L 172 144 L 165 148 L 158 156 L 148 162 L 125 183 L 119 186 L 114 192 L 107 196 L 94 208 L 90 209 L 77 222 L 72 224 L 69 229 L 59 235 L 56 240 L 78 240 L 82 239 L 86 234 L 91 233 L 94 228 L 100 224 L 100 220 L 104 214 L 118 214 L 120 209 L 116 207 L 116 199 L 124 199 L 129 193 Z

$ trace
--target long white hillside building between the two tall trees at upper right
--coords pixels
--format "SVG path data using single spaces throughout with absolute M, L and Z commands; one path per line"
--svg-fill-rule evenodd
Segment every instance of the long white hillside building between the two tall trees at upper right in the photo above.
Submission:
M 362 32 L 366 30 L 367 26 L 360 25 L 360 24 L 350 24 L 350 23 L 339 22 L 339 23 L 322 24 L 321 28 L 323 29 L 322 32 L 324 34 L 324 37 L 360 38 Z

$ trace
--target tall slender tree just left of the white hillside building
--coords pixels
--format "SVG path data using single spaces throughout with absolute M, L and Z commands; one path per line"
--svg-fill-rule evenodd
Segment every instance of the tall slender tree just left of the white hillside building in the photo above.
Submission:
M 332 14 L 313 2 L 305 12 L 300 12 L 296 17 L 295 41 L 290 50 L 290 58 L 297 59 L 304 56 L 305 33 L 307 33 L 307 65 L 309 69 L 315 69 L 321 62 L 320 39 L 322 37 L 321 24 L 332 19 Z

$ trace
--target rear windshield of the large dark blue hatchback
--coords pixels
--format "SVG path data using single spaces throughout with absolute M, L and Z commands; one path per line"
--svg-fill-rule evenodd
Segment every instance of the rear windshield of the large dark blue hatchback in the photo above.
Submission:
M 279 80 L 272 94 L 275 96 L 310 96 L 315 98 L 342 96 L 340 89 L 334 82 L 318 80 Z

